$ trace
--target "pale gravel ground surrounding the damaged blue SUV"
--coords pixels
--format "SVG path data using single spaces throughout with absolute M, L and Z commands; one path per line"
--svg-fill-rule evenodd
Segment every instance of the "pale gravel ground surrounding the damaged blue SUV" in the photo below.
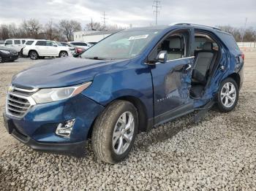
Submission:
M 24 60 L 25 61 L 25 60 Z M 11 75 L 32 63 L 0 66 L 1 99 Z M 3 82 L 3 83 L 2 83 Z M 0 118 L 0 190 L 256 190 L 256 52 L 246 52 L 238 106 L 193 114 L 140 133 L 122 163 L 34 152 L 4 130 Z

